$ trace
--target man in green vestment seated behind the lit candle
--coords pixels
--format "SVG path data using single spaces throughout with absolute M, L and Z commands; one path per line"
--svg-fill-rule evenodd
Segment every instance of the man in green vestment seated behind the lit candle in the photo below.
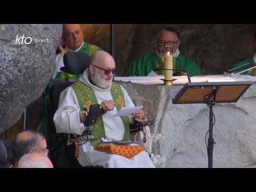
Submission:
M 173 69 L 188 71 L 191 75 L 201 75 L 201 70 L 192 59 L 180 53 L 178 47 L 180 45 L 180 37 L 177 30 L 172 27 L 163 28 L 158 33 L 157 50 L 155 53 L 146 53 L 143 57 L 136 60 L 129 69 L 128 76 L 147 76 L 154 68 L 164 68 L 164 46 L 173 47 Z M 180 62 L 179 62 L 180 60 Z M 177 73 L 179 71 L 173 71 Z M 164 71 L 156 72 L 158 75 L 164 75 Z

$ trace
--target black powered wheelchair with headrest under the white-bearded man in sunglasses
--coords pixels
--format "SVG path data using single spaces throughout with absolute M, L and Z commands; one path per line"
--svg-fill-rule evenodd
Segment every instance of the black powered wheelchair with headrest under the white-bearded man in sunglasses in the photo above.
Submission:
M 69 74 L 79 75 L 83 74 L 84 70 L 89 67 L 90 57 L 89 55 L 81 52 L 67 52 L 63 57 L 65 67 L 61 68 L 61 71 L 64 71 Z M 67 145 L 69 140 L 68 134 L 66 133 L 56 133 L 55 125 L 53 122 L 53 116 L 55 111 L 58 109 L 60 93 L 65 90 L 68 86 L 78 81 L 78 78 L 67 77 L 66 79 L 53 79 L 57 81 L 52 85 L 50 89 L 50 101 L 46 102 L 45 99 L 45 108 L 48 113 L 46 113 L 46 141 L 47 146 L 49 146 L 49 158 L 51 159 L 53 166 L 57 168 L 66 168 L 66 167 L 83 167 L 77 161 L 75 157 L 75 142 L 71 145 Z M 97 121 L 99 104 L 91 105 L 89 112 L 86 108 L 84 110 L 87 113 L 85 118 L 84 126 L 85 130 L 82 135 L 77 135 L 74 137 L 87 137 L 87 135 L 92 135 L 92 125 Z M 143 127 L 147 125 L 152 125 L 153 121 L 138 122 L 130 125 L 131 135 L 135 135 L 137 132 L 142 131 L 144 134 L 143 142 L 146 142 L 146 131 Z M 145 133 L 144 133 L 145 132 Z M 70 138 L 73 137 L 73 134 L 70 134 Z M 135 139 L 135 138 L 133 138 Z M 90 166 L 87 168 L 95 168 L 98 166 Z

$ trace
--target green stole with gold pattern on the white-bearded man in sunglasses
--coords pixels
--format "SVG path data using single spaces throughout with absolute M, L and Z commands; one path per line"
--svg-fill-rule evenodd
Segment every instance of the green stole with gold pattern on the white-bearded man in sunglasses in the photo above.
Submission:
M 71 87 L 76 93 L 76 97 L 79 102 L 79 107 L 81 111 L 84 110 L 84 107 L 86 107 L 86 109 L 89 109 L 91 105 L 99 103 L 92 87 L 90 87 L 89 85 L 78 81 L 76 83 L 73 83 Z M 119 110 L 121 107 L 125 107 L 124 94 L 121 86 L 117 83 L 112 82 L 110 92 L 113 100 L 116 103 L 116 109 Z M 130 139 L 130 119 L 127 115 L 120 116 L 120 118 L 122 119 L 125 127 L 122 141 L 127 141 Z M 106 137 L 102 116 L 98 117 L 97 122 L 92 126 L 92 130 L 94 140 L 91 141 L 91 144 L 94 147 L 99 145 L 101 137 Z

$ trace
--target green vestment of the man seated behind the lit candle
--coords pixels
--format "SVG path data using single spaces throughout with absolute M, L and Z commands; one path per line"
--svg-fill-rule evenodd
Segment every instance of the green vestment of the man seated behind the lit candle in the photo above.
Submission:
M 183 54 L 177 57 L 181 61 L 182 69 L 188 71 L 190 75 L 201 75 L 201 70 L 192 59 Z M 128 76 L 147 76 L 154 68 L 164 68 L 164 61 L 157 57 L 156 53 L 147 53 L 136 60 L 129 69 Z M 180 63 L 173 59 L 173 69 L 180 69 Z M 177 73 L 179 71 L 173 71 Z M 157 71 L 158 75 L 164 75 L 164 70 Z

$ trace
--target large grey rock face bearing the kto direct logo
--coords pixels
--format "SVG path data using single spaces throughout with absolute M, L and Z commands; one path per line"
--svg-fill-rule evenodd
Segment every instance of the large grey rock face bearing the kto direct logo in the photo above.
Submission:
M 61 35 L 62 24 L 0 25 L 0 133 L 43 93 Z

